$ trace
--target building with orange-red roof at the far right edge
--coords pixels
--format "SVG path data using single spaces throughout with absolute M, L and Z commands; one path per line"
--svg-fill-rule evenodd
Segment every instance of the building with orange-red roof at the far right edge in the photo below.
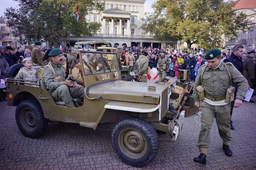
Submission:
M 239 0 L 233 9 L 236 9 L 236 14 L 241 12 L 247 15 L 249 20 L 248 30 L 237 32 L 237 38 L 233 41 L 226 41 L 224 51 L 229 55 L 233 51 L 236 44 L 242 44 L 244 51 L 248 51 L 248 46 L 251 45 L 253 49 L 256 48 L 256 0 Z

